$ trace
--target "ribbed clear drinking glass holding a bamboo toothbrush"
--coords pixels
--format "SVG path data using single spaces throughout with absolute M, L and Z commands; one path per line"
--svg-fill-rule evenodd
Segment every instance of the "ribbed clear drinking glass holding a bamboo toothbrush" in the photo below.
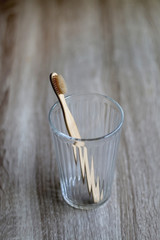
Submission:
M 100 94 L 71 95 L 65 99 L 81 139 L 68 135 L 61 106 L 59 102 L 54 104 L 49 112 L 49 122 L 53 132 L 61 192 L 64 200 L 72 207 L 91 209 L 100 206 L 110 197 L 124 113 L 116 101 Z M 79 147 L 80 144 L 83 146 Z M 88 190 L 86 166 L 85 176 L 82 176 L 80 150 L 84 156 L 84 146 L 87 148 L 90 173 L 93 170 L 93 159 L 95 186 L 99 186 L 100 193 L 98 201 L 95 201 L 93 191 Z

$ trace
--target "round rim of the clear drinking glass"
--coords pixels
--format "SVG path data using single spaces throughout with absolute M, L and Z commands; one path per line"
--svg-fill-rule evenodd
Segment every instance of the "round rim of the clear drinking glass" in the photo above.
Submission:
M 65 99 L 68 99 L 68 98 L 74 97 L 74 96 L 89 96 L 89 95 L 90 95 L 90 96 L 104 97 L 104 98 L 106 98 L 107 100 L 109 100 L 110 102 L 112 102 L 113 104 L 116 105 L 116 107 L 119 109 L 120 114 L 121 114 L 121 120 L 120 120 L 120 123 L 117 125 L 117 127 L 116 127 L 113 131 L 111 131 L 110 133 L 107 133 L 107 134 L 105 134 L 105 135 L 103 135 L 103 136 L 96 137 L 96 138 L 74 138 L 74 137 L 71 137 L 71 136 L 69 136 L 69 135 L 67 135 L 67 134 L 59 131 L 59 130 L 54 126 L 54 124 L 53 124 L 53 122 L 52 122 L 52 120 L 51 120 L 51 113 L 52 113 L 52 111 L 56 108 L 57 105 L 60 106 L 60 102 L 57 101 L 57 102 L 55 102 L 55 103 L 53 104 L 53 106 L 50 108 L 49 114 L 48 114 L 48 119 L 49 119 L 50 127 L 51 127 L 51 129 L 53 129 L 54 133 L 55 133 L 57 136 L 65 139 L 65 140 L 74 141 L 74 142 L 75 142 L 75 141 L 76 141 L 76 142 L 85 142 L 85 141 L 91 142 L 91 141 L 98 141 L 98 140 L 102 140 L 102 139 L 107 139 L 107 138 L 113 136 L 114 134 L 116 134 L 116 133 L 121 129 L 121 127 L 122 127 L 122 125 L 123 125 L 123 122 L 124 122 L 124 111 L 123 111 L 122 107 L 120 106 L 120 104 L 119 104 L 117 101 L 115 101 L 114 99 L 112 99 L 111 97 L 108 97 L 108 96 L 105 96 L 105 95 L 99 94 L 99 93 L 82 93 L 82 94 L 70 94 L 70 95 L 67 95 L 67 96 L 65 97 Z M 61 107 L 60 107 L 60 108 L 61 108 Z

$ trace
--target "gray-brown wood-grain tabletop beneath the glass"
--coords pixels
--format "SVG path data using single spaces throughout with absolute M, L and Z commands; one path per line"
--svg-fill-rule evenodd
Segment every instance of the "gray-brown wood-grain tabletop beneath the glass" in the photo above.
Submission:
M 62 200 L 48 75 L 124 108 L 112 195 Z M 160 1 L 0 1 L 0 239 L 160 239 Z

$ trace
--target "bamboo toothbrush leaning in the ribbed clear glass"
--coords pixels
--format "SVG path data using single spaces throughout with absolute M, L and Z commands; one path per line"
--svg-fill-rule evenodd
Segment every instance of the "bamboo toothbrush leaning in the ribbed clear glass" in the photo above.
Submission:
M 67 106 L 65 98 L 64 98 L 64 94 L 67 91 L 67 87 L 66 87 L 63 77 L 61 75 L 58 75 L 57 73 L 51 73 L 50 74 L 50 82 L 51 82 L 53 90 L 55 91 L 55 94 L 57 95 L 58 100 L 61 104 L 66 128 L 68 130 L 69 135 L 71 137 L 81 139 L 79 130 L 75 123 L 75 120 L 74 120 L 74 118 Z M 87 148 L 86 148 L 84 142 L 83 143 L 76 142 L 75 145 L 73 144 L 74 157 L 75 157 L 76 163 L 77 163 L 77 154 L 76 154 L 77 147 L 79 150 L 80 166 L 81 166 L 83 180 L 85 178 L 85 173 L 86 173 L 88 191 L 89 191 L 89 193 L 92 192 L 94 202 L 99 202 L 100 200 L 103 199 L 103 190 L 100 194 L 99 177 L 97 178 L 97 184 L 95 183 L 93 158 L 92 158 L 91 170 L 90 170 L 89 163 L 88 163 Z M 82 154 L 82 148 L 83 148 L 83 152 L 84 152 L 83 154 Z

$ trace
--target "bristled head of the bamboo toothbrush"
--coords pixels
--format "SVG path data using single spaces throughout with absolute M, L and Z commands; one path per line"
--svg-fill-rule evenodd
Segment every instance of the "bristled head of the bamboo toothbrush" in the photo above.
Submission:
M 58 75 L 57 73 L 51 73 L 50 80 L 57 94 L 65 94 L 67 92 L 67 87 L 62 75 Z

